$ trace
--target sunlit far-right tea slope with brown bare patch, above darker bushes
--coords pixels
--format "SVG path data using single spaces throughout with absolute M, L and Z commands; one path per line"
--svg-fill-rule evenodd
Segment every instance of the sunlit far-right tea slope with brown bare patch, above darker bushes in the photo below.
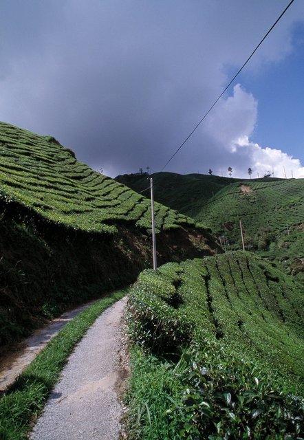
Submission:
M 248 244 L 266 230 L 279 236 L 303 221 L 303 186 L 303 179 L 231 184 L 205 203 L 196 218 L 215 231 L 226 230 L 232 243 L 240 239 L 239 219 Z

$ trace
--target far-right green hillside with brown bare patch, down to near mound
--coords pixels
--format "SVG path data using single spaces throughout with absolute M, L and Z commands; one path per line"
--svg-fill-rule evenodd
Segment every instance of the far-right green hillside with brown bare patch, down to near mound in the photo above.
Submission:
M 304 179 L 233 183 L 206 202 L 195 219 L 224 236 L 228 248 L 241 248 L 241 220 L 246 249 L 304 279 Z

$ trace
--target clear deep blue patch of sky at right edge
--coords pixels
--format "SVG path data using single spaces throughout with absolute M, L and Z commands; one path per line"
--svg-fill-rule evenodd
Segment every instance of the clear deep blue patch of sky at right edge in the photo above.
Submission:
M 239 81 L 257 97 L 259 112 L 252 142 L 275 146 L 304 164 L 304 23 L 292 30 L 292 53 Z

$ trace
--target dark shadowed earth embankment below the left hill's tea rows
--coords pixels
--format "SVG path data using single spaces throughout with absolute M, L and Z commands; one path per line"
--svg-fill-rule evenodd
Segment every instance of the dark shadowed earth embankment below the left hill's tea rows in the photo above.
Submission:
M 90 234 L 0 208 L 2 351 L 47 318 L 133 283 L 152 266 L 151 236 L 135 225 Z M 159 265 L 221 252 L 208 232 L 190 227 L 158 234 L 157 246 Z

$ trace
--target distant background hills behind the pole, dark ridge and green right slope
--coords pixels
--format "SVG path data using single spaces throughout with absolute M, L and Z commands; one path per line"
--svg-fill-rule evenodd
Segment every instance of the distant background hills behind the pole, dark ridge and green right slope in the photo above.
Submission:
M 210 175 L 156 173 L 155 199 L 202 221 L 227 250 L 246 250 L 276 261 L 303 280 L 304 179 L 233 179 Z M 135 190 L 145 176 L 118 176 Z

